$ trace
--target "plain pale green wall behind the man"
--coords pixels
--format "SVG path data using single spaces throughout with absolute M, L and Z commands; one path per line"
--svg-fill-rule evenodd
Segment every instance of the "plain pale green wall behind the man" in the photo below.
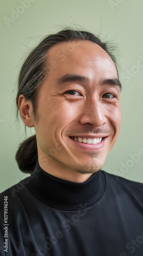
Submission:
M 24 2 L 29 6 L 21 9 Z M 138 155 L 139 148 L 143 148 L 142 8 L 140 0 L 1 0 L 1 191 L 27 176 L 20 172 L 15 161 L 18 144 L 24 140 L 24 125 L 16 122 L 14 109 L 14 89 L 21 63 L 42 37 L 73 24 L 100 33 L 101 38 L 112 40 L 119 46 L 122 124 L 116 145 L 102 169 L 143 183 L 143 156 Z M 8 23 L 14 11 L 21 14 L 9 19 Z M 28 137 L 34 130 L 27 129 L 27 132 Z

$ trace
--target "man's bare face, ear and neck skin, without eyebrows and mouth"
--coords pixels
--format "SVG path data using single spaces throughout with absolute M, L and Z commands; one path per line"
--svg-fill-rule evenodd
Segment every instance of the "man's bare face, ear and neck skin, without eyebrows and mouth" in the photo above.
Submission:
M 118 78 L 109 55 L 97 44 L 79 41 L 61 42 L 49 50 L 48 65 L 56 65 L 42 83 L 38 95 L 38 122 L 32 104 L 19 97 L 19 112 L 28 127 L 35 127 L 39 165 L 45 172 L 73 182 L 84 182 L 97 172 L 115 145 L 121 126 L 120 88 L 102 84 L 104 79 Z M 59 57 L 60 51 L 65 57 Z M 64 56 L 63 55 L 63 56 Z M 56 84 L 55 79 L 72 73 L 88 81 Z M 69 90 L 76 92 L 65 93 Z M 107 96 L 107 93 L 110 95 Z M 76 146 L 69 136 L 107 136 L 102 148 L 87 150 Z

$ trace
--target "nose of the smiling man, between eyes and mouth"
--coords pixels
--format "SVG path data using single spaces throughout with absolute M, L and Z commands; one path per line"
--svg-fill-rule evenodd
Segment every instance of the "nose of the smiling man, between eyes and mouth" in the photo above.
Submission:
M 90 123 L 99 127 L 107 122 L 105 115 L 105 106 L 97 99 L 87 100 L 82 109 L 80 123 Z

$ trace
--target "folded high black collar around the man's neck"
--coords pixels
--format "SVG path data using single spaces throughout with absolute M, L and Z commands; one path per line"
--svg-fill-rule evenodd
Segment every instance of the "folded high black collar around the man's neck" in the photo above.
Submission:
M 102 170 L 88 180 L 77 183 L 45 172 L 36 160 L 36 167 L 26 184 L 31 193 L 44 204 L 61 210 L 79 210 L 92 206 L 102 197 L 105 177 Z

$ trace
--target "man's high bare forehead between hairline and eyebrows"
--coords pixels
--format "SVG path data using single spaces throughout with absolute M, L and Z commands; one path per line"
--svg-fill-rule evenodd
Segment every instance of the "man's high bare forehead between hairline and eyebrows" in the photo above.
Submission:
M 50 76 L 66 73 L 118 77 L 117 69 L 110 56 L 99 45 L 88 40 L 60 42 L 48 52 Z

